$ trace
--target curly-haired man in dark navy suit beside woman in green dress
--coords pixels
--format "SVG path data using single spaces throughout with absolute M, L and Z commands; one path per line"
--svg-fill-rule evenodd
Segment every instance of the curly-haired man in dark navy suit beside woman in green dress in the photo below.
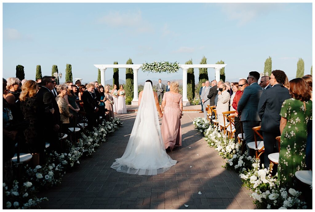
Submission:
M 282 85 L 284 84 L 285 76 L 284 71 L 274 70 L 270 76 L 270 85 L 272 87 L 262 92 L 258 103 L 258 115 L 261 118 L 261 131 L 264 137 L 266 168 L 270 164 L 268 155 L 276 152 L 274 151 L 274 146 L 277 144 L 276 137 L 281 135 L 279 128 L 281 116 L 279 113 L 282 103 L 284 100 L 291 98 L 289 90 Z M 278 149 L 278 145 L 276 147 Z

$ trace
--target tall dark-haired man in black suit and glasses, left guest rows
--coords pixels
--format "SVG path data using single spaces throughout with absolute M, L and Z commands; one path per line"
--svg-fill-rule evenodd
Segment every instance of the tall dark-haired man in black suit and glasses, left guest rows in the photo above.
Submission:
M 52 89 L 54 89 L 54 80 L 52 77 L 43 77 L 42 88 L 38 90 L 36 95 L 38 112 L 40 117 L 42 117 L 42 124 L 40 124 L 41 129 L 39 129 L 38 132 L 39 134 L 42 134 L 41 136 L 45 138 L 53 148 L 56 149 L 56 141 L 58 140 L 58 130 L 60 126 L 60 111 L 54 94 L 52 93 Z M 40 149 L 43 150 L 45 142 L 40 145 Z M 40 154 L 42 153 L 43 152 L 40 152 Z M 43 161 L 42 158 L 41 161 Z

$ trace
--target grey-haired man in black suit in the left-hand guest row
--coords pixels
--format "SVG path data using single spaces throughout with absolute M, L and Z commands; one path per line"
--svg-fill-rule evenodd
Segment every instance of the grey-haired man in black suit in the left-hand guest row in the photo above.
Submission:
M 82 101 L 86 118 L 88 119 L 88 129 L 91 131 L 93 126 L 96 126 L 98 107 L 95 98 L 92 96 L 94 92 L 94 84 L 89 83 L 86 85 L 86 90 L 82 94 Z

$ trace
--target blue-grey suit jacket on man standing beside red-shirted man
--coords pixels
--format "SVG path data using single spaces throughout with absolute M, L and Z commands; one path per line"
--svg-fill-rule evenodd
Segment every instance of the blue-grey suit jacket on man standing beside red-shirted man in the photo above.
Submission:
M 258 83 L 252 83 L 244 89 L 238 102 L 237 111 L 242 112 L 241 121 L 261 121 L 258 116 L 258 102 L 262 94 L 262 88 Z

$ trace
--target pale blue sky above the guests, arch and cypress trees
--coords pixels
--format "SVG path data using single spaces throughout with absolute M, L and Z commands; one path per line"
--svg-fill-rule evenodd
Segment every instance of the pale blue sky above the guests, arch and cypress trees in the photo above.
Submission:
M 15 77 L 18 64 L 34 79 L 36 65 L 50 75 L 52 65 L 64 74 L 69 63 L 73 78 L 87 82 L 97 79 L 93 64 L 199 63 L 203 55 L 208 64 L 225 61 L 226 79 L 263 72 L 268 56 L 291 79 L 302 58 L 309 74 L 312 3 L 3 3 L 4 78 Z M 106 80 L 112 74 L 107 69 Z M 181 79 L 182 71 L 140 70 L 138 78 Z

